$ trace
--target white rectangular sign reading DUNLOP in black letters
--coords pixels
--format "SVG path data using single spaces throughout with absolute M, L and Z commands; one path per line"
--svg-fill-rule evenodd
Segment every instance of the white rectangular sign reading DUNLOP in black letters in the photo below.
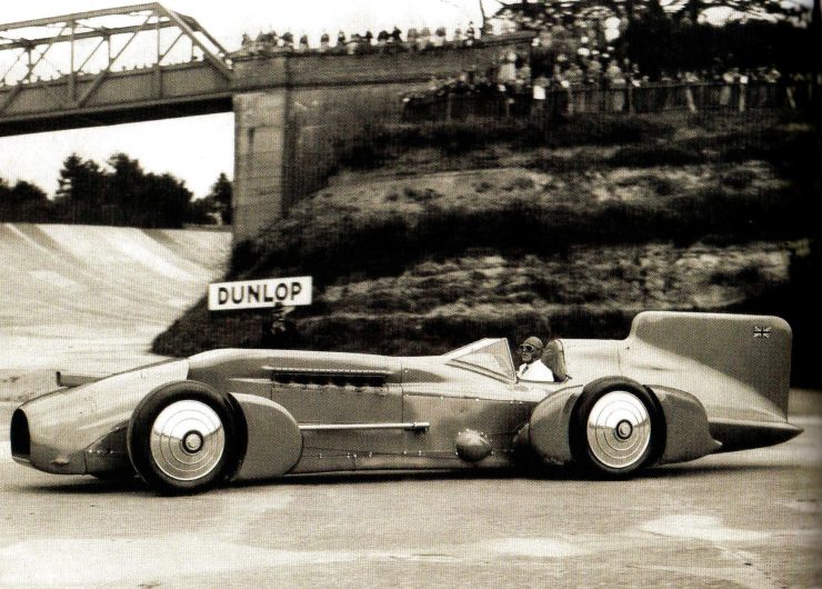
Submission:
M 311 305 L 311 277 L 268 278 L 209 284 L 209 311 Z

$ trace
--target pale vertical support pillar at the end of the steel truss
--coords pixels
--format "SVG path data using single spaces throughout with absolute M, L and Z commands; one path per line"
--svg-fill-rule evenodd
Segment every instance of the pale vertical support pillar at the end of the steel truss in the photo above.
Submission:
M 288 93 L 279 88 L 234 94 L 234 243 L 284 212 Z

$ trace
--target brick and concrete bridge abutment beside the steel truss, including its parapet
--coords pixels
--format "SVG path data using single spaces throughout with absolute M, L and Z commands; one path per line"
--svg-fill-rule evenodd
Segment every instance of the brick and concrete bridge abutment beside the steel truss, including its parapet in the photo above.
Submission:
M 402 94 L 473 70 L 532 36 L 425 52 L 234 57 L 234 243 L 252 239 L 322 188 L 339 146 L 367 124 L 401 121 Z

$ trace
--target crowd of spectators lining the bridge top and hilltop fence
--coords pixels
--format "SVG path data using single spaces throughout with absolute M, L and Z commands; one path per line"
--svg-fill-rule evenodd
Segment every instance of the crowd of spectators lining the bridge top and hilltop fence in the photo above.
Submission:
M 775 88 L 778 84 L 782 89 L 783 102 L 796 108 L 796 103 L 802 101 L 802 90 L 798 89 L 809 86 L 806 76 L 783 76 L 773 64 L 741 69 L 733 66 L 733 56 L 715 59 L 708 69 L 663 70 L 649 74 L 628 57 L 624 47 L 628 19 L 624 13 L 598 8 L 574 14 L 560 6 L 527 6 L 533 8 L 524 11 L 503 8 L 491 23 L 480 29 L 469 23 L 464 31 L 460 28 L 449 31 L 444 27 L 432 31 L 423 27 L 411 28 L 403 33 L 394 27 L 391 31 L 381 30 L 377 36 L 365 31 L 350 37 L 340 31 L 334 40 L 323 33 L 315 46 L 305 34 L 298 40 L 290 32 L 281 36 L 275 31 L 261 32 L 255 39 L 244 34 L 240 54 L 423 52 L 480 46 L 489 39 L 504 41 L 517 38 L 520 41 L 510 47 L 501 44 L 495 62 L 488 63 L 484 69 L 472 68 L 451 79 L 432 79 L 425 90 L 404 97 L 407 109 L 433 103 L 444 97 L 475 96 L 498 101 L 504 98 L 510 104 L 527 101 L 529 109 L 538 112 L 548 108 L 648 111 L 673 108 L 674 102 L 692 111 L 708 102 L 744 110 L 773 103 L 774 92 L 766 87 Z M 530 47 L 523 47 L 523 39 L 530 39 Z M 813 81 L 819 84 L 819 80 Z M 711 89 L 698 93 L 695 89 L 699 87 Z M 656 91 L 650 97 L 643 89 L 651 88 L 675 90 Z M 552 106 L 547 107 L 551 97 Z

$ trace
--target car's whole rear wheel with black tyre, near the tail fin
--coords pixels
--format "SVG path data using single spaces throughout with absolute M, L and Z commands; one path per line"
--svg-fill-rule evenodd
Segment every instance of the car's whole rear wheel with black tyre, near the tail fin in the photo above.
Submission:
M 571 417 L 571 450 L 589 475 L 624 478 L 661 452 L 664 418 L 653 395 L 621 378 L 585 387 Z

